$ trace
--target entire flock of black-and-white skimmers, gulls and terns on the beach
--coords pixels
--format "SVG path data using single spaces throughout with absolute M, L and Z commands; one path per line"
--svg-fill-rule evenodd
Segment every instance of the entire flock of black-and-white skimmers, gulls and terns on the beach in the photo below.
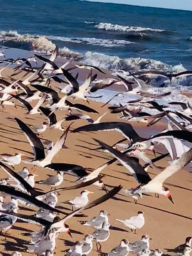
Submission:
M 0 56 L 4 56 L 3 50 L 0 52 Z M 189 102 L 170 102 L 167 104 L 169 106 L 160 105 L 155 99 L 165 97 L 171 94 L 171 92 L 161 95 L 152 95 L 143 92 L 146 84 L 139 78 L 140 75 L 147 76 L 147 74 L 153 74 L 172 80 L 181 76 L 192 75 L 192 72 L 166 74 L 165 72 L 152 70 L 135 74 L 129 72 L 130 74 L 126 78 L 117 75 L 116 79 L 97 79 L 99 73 L 102 75 L 105 74 L 103 70 L 90 65 L 75 65 L 74 67 L 67 68 L 70 61 L 58 67 L 55 62 L 57 55 L 58 47 L 56 47 L 50 58 L 34 54 L 34 56 L 27 59 L 4 59 L 0 61 L 0 63 L 3 63 L 3 67 L 0 70 L 0 101 L 2 110 L 6 105 L 18 108 L 16 102 L 19 102 L 19 108 L 26 108 L 28 115 L 37 115 L 40 113 L 47 118 L 47 122 L 43 121 L 40 127 L 30 127 L 24 121 L 15 118 L 18 128 L 23 132 L 33 149 L 34 158 L 25 162 L 22 160 L 21 153 L 17 153 L 14 156 L 1 155 L 0 167 L 8 175 L 8 178 L 0 180 L 0 192 L 2 194 L 0 197 L 1 234 L 6 238 L 7 230 L 11 229 L 17 220 L 34 223 L 39 228 L 38 231 L 26 234 L 30 237 L 27 252 L 46 256 L 53 255 L 56 247 L 56 238 L 61 232 L 65 232 L 71 236 L 69 226 L 65 223 L 69 218 L 73 216 L 82 218 L 87 209 L 113 198 L 120 190 L 125 195 L 131 197 L 135 203 L 138 199 L 143 198 L 146 193 L 153 193 L 157 197 L 164 195 L 174 203 L 170 189 L 164 186 L 164 182 L 192 161 L 191 104 Z M 43 62 L 43 65 L 37 67 L 37 63 L 40 61 L 41 63 Z M 2 71 L 8 67 L 13 67 L 13 72 L 9 77 L 2 74 Z M 75 69 L 89 70 L 87 79 L 81 85 L 78 82 L 78 74 L 74 76 L 69 72 Z M 95 72 L 94 75 L 92 75 L 93 71 Z M 20 77 L 15 79 L 14 77 L 16 75 Z M 60 83 L 59 91 L 58 88 L 53 89 L 51 83 L 53 80 Z M 70 98 L 78 98 L 89 103 L 89 98 L 94 98 L 92 92 L 114 84 L 125 87 L 125 91 L 118 94 L 134 93 L 141 96 L 137 100 L 129 101 L 126 106 L 120 104 L 119 106 L 108 107 L 111 113 L 121 113 L 120 119 L 123 119 L 124 122 L 101 122 L 101 119 L 104 115 L 107 115 L 107 112 L 94 121 L 89 115 L 90 113 L 99 114 L 97 110 L 83 103 L 69 101 Z M 60 97 L 59 95 L 61 94 L 64 94 L 64 96 Z M 33 101 L 37 101 L 34 107 L 31 106 L 31 102 Z M 42 106 L 43 104 L 44 106 Z M 172 105 L 178 105 L 180 109 L 172 110 L 169 108 Z M 151 115 L 144 112 L 143 110 L 147 108 L 158 111 L 158 114 Z M 65 117 L 58 120 L 55 113 L 56 110 L 65 110 Z M 148 126 L 152 126 L 163 117 L 167 120 L 167 130 L 163 130 L 148 138 L 138 135 L 133 126 L 125 122 L 145 122 Z M 74 121 L 76 119 L 85 119 L 89 124 L 71 130 L 72 133 L 117 131 L 124 137 L 124 139 L 117 141 L 112 146 L 98 139 L 94 139 L 99 146 L 92 148 L 92 150 L 102 150 L 105 153 L 111 154 L 114 158 L 90 173 L 83 166 L 52 162 L 54 156 L 62 148 L 67 148 L 65 141 L 72 123 L 68 125 L 67 129 L 64 129 L 62 127 L 63 122 L 65 121 L 66 124 L 67 121 Z M 40 136 L 43 136 L 43 132 L 48 128 L 50 132 L 53 132 L 53 129 L 62 131 L 62 135 L 55 144 L 48 139 L 42 143 L 40 139 Z M 168 153 L 164 155 L 160 154 L 153 159 L 147 157 L 143 150 L 150 150 L 155 155 L 156 146 L 159 143 L 165 146 Z M 152 179 L 149 173 L 147 173 L 148 168 L 150 166 L 159 168 L 156 166 L 156 162 L 168 155 L 172 158 L 170 165 Z M 139 159 L 145 162 L 144 166 L 139 163 Z M 101 172 L 117 160 L 134 176 L 136 182 L 138 182 L 138 186 L 123 189 L 121 185 L 118 185 L 114 186 L 110 191 L 106 189 L 102 181 L 103 175 Z M 30 173 L 27 167 L 24 167 L 22 171 L 15 171 L 14 166 L 19 165 L 21 162 L 32 165 L 33 171 L 37 167 L 49 168 L 56 171 L 56 175 L 50 176 L 46 180 L 38 181 L 39 184 L 49 186 L 50 190 L 48 192 L 34 188 L 36 175 Z M 60 186 L 63 182 L 64 173 L 73 173 L 78 177 L 78 180 L 72 186 L 57 189 L 56 187 Z M 85 187 L 89 188 L 92 184 L 102 188 L 106 193 L 100 198 L 89 202 L 89 194 L 93 192 L 85 189 Z M 60 210 L 57 205 L 60 192 L 80 188 L 82 188 L 82 191 L 78 197 L 71 198 L 71 200 L 65 202 L 65 204 L 71 206 L 72 211 L 69 209 L 67 212 Z M 11 197 L 11 200 L 4 202 L 5 196 Z M 33 206 L 39 210 L 35 215 L 21 214 L 19 213 L 19 204 L 24 204 L 27 207 Z M 57 216 L 58 214 L 63 214 L 64 217 L 59 218 Z M 123 239 L 111 252 L 102 252 L 101 243 L 107 241 L 110 237 L 108 216 L 107 211 L 101 210 L 94 218 L 78 220 L 82 225 L 92 227 L 95 231 L 92 234 L 87 234 L 82 240 L 76 241 L 74 246 L 63 251 L 67 253 L 65 255 L 88 255 L 93 249 L 93 241 L 96 242 L 97 252 L 101 256 L 127 256 L 129 252 L 141 256 L 161 256 L 164 254 L 160 249 L 149 249 L 150 237 L 148 235 L 141 236 L 141 239 L 134 243 L 129 243 L 128 240 Z M 129 219 L 116 220 L 121 223 L 120 225 L 125 225 L 131 231 L 134 231 L 135 234 L 136 229 L 141 229 L 145 225 L 144 212 L 142 211 L 138 211 L 136 216 L 132 216 Z M 174 255 L 189 256 L 192 252 L 191 242 L 192 237 L 187 237 L 184 244 L 173 249 L 166 249 L 167 254 L 173 253 Z M 21 256 L 21 252 L 13 252 L 12 256 Z

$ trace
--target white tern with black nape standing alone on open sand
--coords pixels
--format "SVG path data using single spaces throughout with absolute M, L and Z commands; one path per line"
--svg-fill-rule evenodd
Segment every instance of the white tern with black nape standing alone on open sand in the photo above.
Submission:
M 129 227 L 131 231 L 135 231 L 134 234 L 136 234 L 136 229 L 141 229 L 145 225 L 145 218 L 143 216 L 143 211 L 138 211 L 137 216 L 133 216 L 130 219 L 127 220 L 118 220 L 119 222 L 122 222 L 126 227 Z

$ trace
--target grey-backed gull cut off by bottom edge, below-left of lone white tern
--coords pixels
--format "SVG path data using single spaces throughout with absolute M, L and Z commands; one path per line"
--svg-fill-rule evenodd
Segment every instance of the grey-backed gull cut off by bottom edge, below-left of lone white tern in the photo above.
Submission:
M 129 241 L 126 239 L 121 240 L 119 246 L 115 247 L 108 253 L 101 253 L 101 256 L 127 256 L 129 254 Z

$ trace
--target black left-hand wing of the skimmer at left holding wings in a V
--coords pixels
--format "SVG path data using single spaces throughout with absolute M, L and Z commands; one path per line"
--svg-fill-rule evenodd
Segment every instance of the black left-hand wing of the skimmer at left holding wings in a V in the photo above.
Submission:
M 22 132 L 24 132 L 27 137 L 29 144 L 33 148 L 33 153 L 35 155 L 35 160 L 42 160 L 45 158 L 44 146 L 37 135 L 20 119 L 15 117 L 16 122 L 21 128 Z

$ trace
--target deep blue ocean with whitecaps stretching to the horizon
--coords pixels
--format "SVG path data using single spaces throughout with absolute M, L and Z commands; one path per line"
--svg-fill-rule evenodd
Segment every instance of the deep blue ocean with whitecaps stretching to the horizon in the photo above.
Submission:
M 81 58 L 84 56 L 91 64 L 105 67 L 108 61 L 106 68 L 114 69 L 116 65 L 127 70 L 130 63 L 125 59 L 140 57 L 172 66 L 182 63 L 192 69 L 191 11 L 79 0 L 0 1 L 0 10 L 1 31 L 16 30 L 20 36 L 45 35 L 60 48 L 66 46 L 82 54 Z M 30 48 L 25 43 L 11 45 L 11 36 L 9 42 L 4 39 L 4 45 Z

